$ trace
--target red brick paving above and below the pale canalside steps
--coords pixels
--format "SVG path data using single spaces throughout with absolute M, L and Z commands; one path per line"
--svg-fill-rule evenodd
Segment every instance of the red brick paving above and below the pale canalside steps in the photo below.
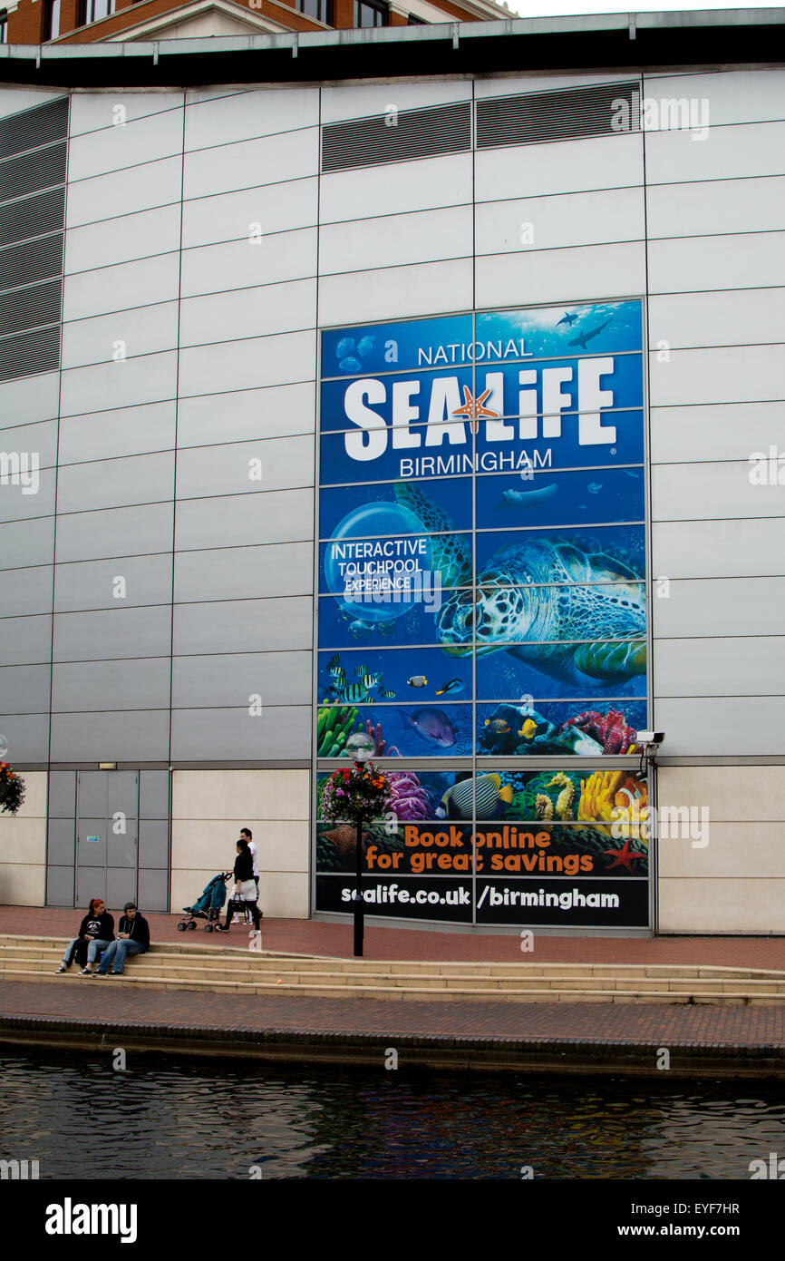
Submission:
M 67 938 L 74 910 L 0 907 L 0 933 Z M 176 915 L 149 915 L 154 942 L 193 942 Z M 210 946 L 244 944 L 200 936 Z M 265 950 L 352 956 L 352 926 L 265 921 Z M 537 936 L 522 955 L 519 934 L 465 934 L 367 928 L 365 957 L 433 961 L 716 963 L 785 971 L 784 938 L 651 939 Z M 675 1076 L 785 1077 L 785 1005 L 708 1006 L 606 1002 L 445 1002 L 232 996 L 140 991 L 122 980 L 5 982 L 0 1040 L 78 1043 L 106 1049 L 118 1039 L 140 1049 L 373 1063 L 396 1045 L 401 1063 L 423 1067 L 656 1073 L 668 1048 Z M 108 1043 L 107 1043 L 107 1039 Z

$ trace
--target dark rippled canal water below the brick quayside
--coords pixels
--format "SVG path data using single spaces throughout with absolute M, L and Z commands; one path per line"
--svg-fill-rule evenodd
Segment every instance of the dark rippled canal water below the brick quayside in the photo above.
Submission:
M 115 1071 L 106 1053 L 15 1048 L 0 1073 L 0 1158 L 38 1160 L 42 1179 L 748 1179 L 751 1160 L 785 1150 L 777 1082 L 132 1052 Z

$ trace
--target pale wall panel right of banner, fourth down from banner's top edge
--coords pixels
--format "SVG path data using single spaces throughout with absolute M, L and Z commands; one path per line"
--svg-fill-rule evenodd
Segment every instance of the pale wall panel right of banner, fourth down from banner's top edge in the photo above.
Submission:
M 764 449 L 765 454 L 767 448 Z M 651 514 L 655 521 L 696 517 L 785 516 L 781 485 L 752 485 L 748 460 L 721 464 L 658 464 L 651 470 Z M 767 463 L 766 463 L 767 472 Z M 781 528 L 785 526 L 781 525 Z

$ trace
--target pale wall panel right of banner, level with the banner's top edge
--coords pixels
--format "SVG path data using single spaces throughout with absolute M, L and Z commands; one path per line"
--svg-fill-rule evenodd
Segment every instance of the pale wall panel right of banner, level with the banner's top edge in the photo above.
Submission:
M 669 294 L 649 301 L 651 347 L 660 340 L 677 349 L 756 344 L 766 339 L 766 330 L 785 339 L 785 289 Z

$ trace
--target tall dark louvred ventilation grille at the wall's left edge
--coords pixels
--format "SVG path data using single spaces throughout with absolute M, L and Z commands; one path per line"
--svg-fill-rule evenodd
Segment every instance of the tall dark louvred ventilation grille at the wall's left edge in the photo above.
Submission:
M 60 362 L 68 97 L 0 119 L 0 381 Z

